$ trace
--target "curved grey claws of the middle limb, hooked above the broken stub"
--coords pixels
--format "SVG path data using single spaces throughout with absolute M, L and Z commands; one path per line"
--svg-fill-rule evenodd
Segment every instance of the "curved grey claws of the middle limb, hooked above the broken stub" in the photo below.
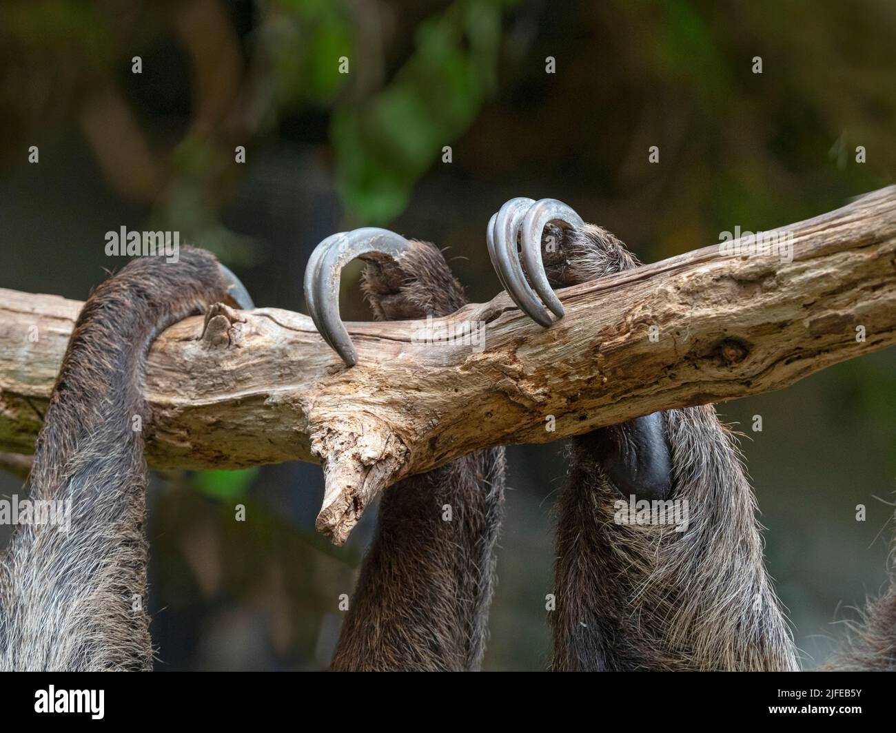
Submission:
M 397 258 L 410 243 L 388 229 L 365 227 L 327 237 L 308 260 L 305 271 L 305 300 L 317 331 L 348 366 L 358 363 L 358 352 L 339 315 L 339 284 L 342 268 L 365 254 L 388 254 Z

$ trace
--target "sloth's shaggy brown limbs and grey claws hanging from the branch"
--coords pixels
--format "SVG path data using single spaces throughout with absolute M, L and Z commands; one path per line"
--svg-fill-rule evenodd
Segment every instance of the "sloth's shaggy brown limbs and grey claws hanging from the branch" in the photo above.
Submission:
M 490 222 L 488 242 L 514 300 L 549 324 L 519 263 L 520 231 L 525 274 L 556 315 L 562 305 L 546 296 L 551 288 L 639 263 L 568 207 L 539 204 L 505 205 Z M 366 229 L 319 249 L 320 266 L 306 279 L 306 295 L 309 282 L 317 292 L 309 308 L 347 363 L 354 358 L 348 336 L 332 328 L 338 306 L 323 298 L 325 280 L 347 257 L 367 261 L 363 287 L 377 319 L 446 315 L 465 302 L 433 245 Z M 184 248 L 176 265 L 134 260 L 85 304 L 30 474 L 32 498 L 71 500 L 73 526 L 62 533 L 22 525 L 0 557 L 0 669 L 151 669 L 149 617 L 140 602 L 147 592 L 147 476 L 142 433 L 132 421 L 147 417 L 142 383 L 152 341 L 216 302 L 252 307 L 211 254 Z M 557 511 L 554 669 L 798 668 L 737 445 L 711 406 L 582 435 L 568 461 Z M 687 499 L 691 520 L 683 532 L 616 523 L 621 496 Z M 500 448 L 390 487 L 332 669 L 479 668 L 503 500 Z M 445 504 L 452 522 L 443 521 Z M 896 668 L 893 588 L 868 605 L 866 623 L 832 668 Z

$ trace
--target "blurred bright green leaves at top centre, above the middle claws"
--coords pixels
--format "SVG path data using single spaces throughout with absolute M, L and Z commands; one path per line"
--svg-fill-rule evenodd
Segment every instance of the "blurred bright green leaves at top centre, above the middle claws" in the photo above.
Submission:
M 383 225 L 401 213 L 418 178 L 476 118 L 495 90 L 508 4 L 460 0 L 422 22 L 392 82 L 335 110 L 337 190 L 358 223 Z

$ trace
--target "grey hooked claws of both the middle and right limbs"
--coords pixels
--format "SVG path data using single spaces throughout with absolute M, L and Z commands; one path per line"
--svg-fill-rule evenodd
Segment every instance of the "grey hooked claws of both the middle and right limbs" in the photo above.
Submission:
M 545 327 L 553 323 L 548 308 L 557 318 L 564 315 L 563 305 L 547 281 L 541 258 L 541 236 L 548 223 L 564 229 L 581 228 L 584 224 L 575 211 L 556 199 L 536 202 L 514 198 L 492 216 L 486 232 L 488 254 L 504 289 L 524 313 Z M 523 272 L 518 240 L 525 273 L 529 274 L 540 301 Z M 356 257 L 368 259 L 374 254 L 392 257 L 398 262 L 409 246 L 409 241 L 395 232 L 366 227 L 334 234 L 314 248 L 305 271 L 308 311 L 323 340 L 348 366 L 358 363 L 358 352 L 340 319 L 342 268 Z

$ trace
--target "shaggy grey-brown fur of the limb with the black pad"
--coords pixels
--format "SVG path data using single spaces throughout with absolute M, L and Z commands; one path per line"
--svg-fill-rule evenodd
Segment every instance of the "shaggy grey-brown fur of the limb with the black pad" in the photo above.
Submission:
M 604 229 L 547 234 L 559 243 L 545 253 L 554 287 L 638 265 Z M 614 521 L 622 496 L 605 446 L 625 425 L 573 439 L 558 506 L 553 668 L 796 669 L 733 436 L 711 405 L 668 410 L 662 424 L 669 498 L 689 504 L 683 532 Z

